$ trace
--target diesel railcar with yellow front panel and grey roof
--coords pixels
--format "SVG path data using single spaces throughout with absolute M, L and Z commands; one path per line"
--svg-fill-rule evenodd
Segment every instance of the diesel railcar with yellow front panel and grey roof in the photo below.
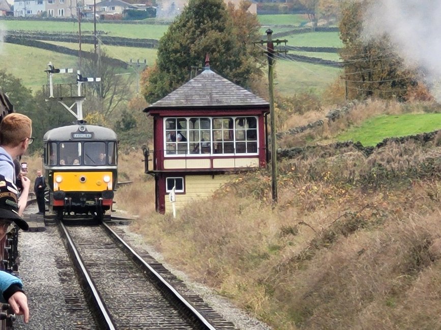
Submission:
M 58 219 L 111 209 L 117 182 L 117 138 L 110 128 L 76 124 L 53 128 L 43 137 L 43 166 L 49 207 Z

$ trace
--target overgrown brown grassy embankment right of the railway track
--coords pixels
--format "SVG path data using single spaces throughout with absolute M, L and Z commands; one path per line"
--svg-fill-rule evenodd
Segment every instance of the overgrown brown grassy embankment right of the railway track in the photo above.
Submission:
M 256 171 L 137 226 L 275 329 L 437 328 L 440 138 L 303 148 L 279 163 L 276 205 Z

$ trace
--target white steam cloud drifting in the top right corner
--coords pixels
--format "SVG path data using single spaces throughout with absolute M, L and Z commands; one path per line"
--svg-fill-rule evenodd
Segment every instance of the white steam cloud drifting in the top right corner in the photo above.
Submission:
M 367 38 L 388 34 L 405 64 L 423 69 L 441 101 L 441 1 L 372 0 L 363 26 Z

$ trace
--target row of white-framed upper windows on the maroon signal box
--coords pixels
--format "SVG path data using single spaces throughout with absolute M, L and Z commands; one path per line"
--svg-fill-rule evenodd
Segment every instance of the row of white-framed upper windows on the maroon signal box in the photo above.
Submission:
M 164 154 L 257 154 L 257 117 L 164 119 Z

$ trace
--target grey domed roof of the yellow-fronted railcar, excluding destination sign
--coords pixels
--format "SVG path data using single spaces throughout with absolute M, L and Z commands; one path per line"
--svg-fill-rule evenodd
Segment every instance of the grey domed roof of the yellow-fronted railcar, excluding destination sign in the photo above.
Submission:
M 80 131 L 79 127 L 84 126 L 85 130 Z M 72 133 L 93 133 L 93 139 L 75 139 L 79 140 L 116 140 L 116 133 L 107 127 L 87 125 L 87 124 L 76 124 L 70 126 L 62 126 L 48 130 L 43 137 L 43 141 L 74 141 L 72 139 Z

